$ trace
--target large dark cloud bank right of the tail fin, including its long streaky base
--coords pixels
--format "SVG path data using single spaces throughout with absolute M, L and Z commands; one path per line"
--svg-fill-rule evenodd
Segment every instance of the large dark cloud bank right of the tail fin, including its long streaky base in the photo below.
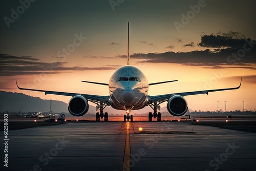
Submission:
M 182 42 L 181 38 L 176 41 Z M 198 66 L 202 68 L 242 68 L 256 69 L 256 41 L 238 32 L 217 33 L 204 35 L 199 46 L 208 47 L 206 50 L 190 52 L 164 52 L 164 53 L 135 53 L 132 58 L 143 59 L 138 62 L 150 63 L 180 63 L 185 66 Z M 194 42 L 183 47 L 194 47 Z M 221 47 L 221 48 L 220 48 Z M 173 46 L 166 47 L 173 48 Z M 215 48 L 215 49 L 213 49 Z M 246 49 L 245 49 L 246 48 Z M 143 57 L 143 58 L 142 58 Z

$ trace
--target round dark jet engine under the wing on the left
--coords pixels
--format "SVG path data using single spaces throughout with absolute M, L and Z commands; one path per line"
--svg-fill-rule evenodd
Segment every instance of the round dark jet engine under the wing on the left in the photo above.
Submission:
M 68 110 L 73 116 L 83 116 L 88 112 L 89 104 L 83 96 L 76 95 L 70 99 Z

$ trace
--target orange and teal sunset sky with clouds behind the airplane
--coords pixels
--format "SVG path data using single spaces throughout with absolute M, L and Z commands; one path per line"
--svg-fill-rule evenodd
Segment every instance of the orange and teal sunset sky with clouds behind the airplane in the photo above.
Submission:
M 130 22 L 131 65 L 151 86 L 148 95 L 242 86 L 185 96 L 191 110 L 256 109 L 255 1 L 40 1 L 0 2 L 0 90 L 69 102 L 70 97 L 20 87 L 109 95 L 108 83 L 126 65 Z M 19 104 L 17 104 L 19 105 Z M 166 103 L 161 104 L 166 106 Z

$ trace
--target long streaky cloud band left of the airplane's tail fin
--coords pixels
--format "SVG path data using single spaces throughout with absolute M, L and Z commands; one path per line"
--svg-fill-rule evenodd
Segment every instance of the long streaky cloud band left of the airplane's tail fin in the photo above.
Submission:
M 0 54 L 0 76 L 57 74 L 63 71 L 114 70 L 117 67 L 66 67 L 68 62 L 42 62 L 31 56 Z

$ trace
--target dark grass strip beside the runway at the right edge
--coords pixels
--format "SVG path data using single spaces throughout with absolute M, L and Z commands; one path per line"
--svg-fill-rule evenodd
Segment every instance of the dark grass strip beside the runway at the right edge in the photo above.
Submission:
M 255 121 L 231 121 L 231 122 L 191 122 L 194 125 L 214 126 L 221 129 L 244 131 L 249 133 L 256 133 L 256 122 Z

